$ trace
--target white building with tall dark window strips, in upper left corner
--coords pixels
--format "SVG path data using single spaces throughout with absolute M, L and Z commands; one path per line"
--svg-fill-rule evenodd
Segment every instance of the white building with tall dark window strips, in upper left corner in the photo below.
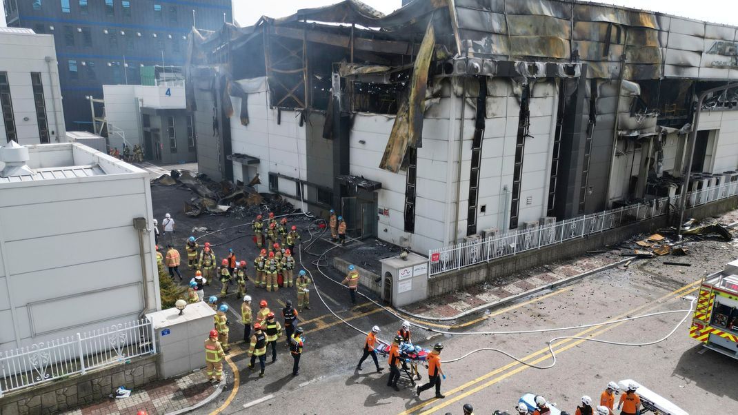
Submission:
M 0 27 L 0 107 L 0 144 L 65 141 L 53 35 Z

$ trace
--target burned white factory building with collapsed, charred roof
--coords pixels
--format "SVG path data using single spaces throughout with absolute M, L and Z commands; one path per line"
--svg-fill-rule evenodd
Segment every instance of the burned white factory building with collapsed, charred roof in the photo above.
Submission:
M 419 252 L 738 180 L 736 91 L 697 105 L 738 79 L 736 27 L 579 1 L 404 3 L 193 32 L 200 172 Z

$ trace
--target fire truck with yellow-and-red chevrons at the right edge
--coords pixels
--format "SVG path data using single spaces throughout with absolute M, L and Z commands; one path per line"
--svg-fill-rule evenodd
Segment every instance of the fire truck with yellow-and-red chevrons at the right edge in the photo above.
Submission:
M 738 260 L 703 279 L 689 335 L 738 359 Z

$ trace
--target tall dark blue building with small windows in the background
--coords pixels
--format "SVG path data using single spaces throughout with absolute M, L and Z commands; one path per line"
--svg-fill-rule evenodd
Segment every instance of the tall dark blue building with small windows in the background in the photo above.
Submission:
M 86 96 L 101 98 L 103 84 L 139 84 L 141 66 L 183 66 L 193 10 L 198 29 L 232 21 L 230 0 L 69 0 L 68 12 L 66 1 L 17 4 L 9 26 L 55 37 L 67 130 L 91 130 Z

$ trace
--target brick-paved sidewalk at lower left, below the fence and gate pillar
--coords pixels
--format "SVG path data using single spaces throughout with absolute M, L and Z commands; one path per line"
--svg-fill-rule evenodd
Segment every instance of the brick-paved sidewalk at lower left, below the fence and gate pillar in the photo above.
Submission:
M 127 398 L 110 398 L 63 414 L 136 415 L 138 411 L 146 411 L 148 415 L 184 414 L 214 400 L 224 385 L 224 382 L 215 385 L 205 382 L 204 372 L 192 372 L 150 383 L 145 388 L 132 391 Z

